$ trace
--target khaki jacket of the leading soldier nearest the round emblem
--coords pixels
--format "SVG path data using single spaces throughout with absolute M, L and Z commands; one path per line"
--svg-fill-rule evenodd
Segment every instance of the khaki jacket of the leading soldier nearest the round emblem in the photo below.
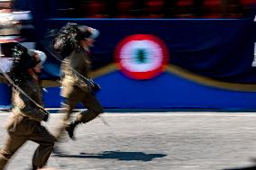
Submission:
M 69 57 L 65 58 L 60 66 L 61 69 L 61 92 L 60 95 L 65 98 L 70 98 L 77 91 L 88 93 L 90 87 L 78 77 L 76 70 L 80 75 L 87 77 L 90 71 L 91 61 L 87 51 L 84 49 L 75 49 Z

